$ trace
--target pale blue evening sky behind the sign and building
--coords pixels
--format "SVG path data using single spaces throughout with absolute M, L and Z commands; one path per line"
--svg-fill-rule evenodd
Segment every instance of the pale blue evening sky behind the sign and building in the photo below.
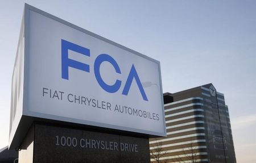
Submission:
M 164 92 L 213 83 L 229 106 L 237 162 L 256 162 L 254 0 L 1 0 L 0 148 L 24 3 L 159 60 Z

